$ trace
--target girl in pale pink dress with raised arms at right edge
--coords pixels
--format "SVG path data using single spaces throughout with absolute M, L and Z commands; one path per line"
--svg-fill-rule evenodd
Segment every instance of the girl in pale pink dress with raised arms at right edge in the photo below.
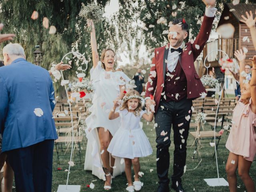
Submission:
M 252 77 L 248 81 L 244 76 L 246 54 L 237 50 L 234 54 L 240 62 L 241 98 L 233 110 L 232 127 L 226 148 L 230 151 L 226 163 L 226 173 L 230 192 L 236 192 L 236 170 L 248 192 L 255 192 L 255 186 L 249 175 L 250 166 L 256 155 L 256 56 L 252 60 Z

